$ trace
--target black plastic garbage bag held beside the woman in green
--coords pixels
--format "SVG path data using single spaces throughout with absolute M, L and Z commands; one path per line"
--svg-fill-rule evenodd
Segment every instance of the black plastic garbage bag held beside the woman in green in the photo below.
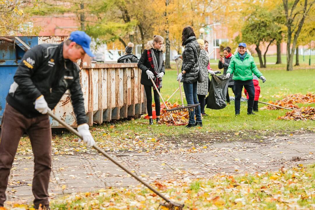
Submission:
M 229 78 L 225 75 L 213 75 L 210 84 L 209 95 L 207 96 L 207 108 L 223 109 L 226 107 L 226 92 L 229 85 Z

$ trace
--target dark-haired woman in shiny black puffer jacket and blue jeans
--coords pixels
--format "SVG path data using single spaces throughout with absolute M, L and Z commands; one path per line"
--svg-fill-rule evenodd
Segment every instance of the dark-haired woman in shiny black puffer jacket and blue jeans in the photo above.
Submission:
M 185 50 L 182 54 L 183 64 L 181 66 L 181 72 L 178 75 L 177 80 L 183 82 L 187 104 L 198 104 L 197 79 L 199 72 L 198 55 L 200 53 L 200 46 L 196 40 L 195 32 L 191 26 L 186 26 L 183 29 L 182 46 L 185 46 Z M 189 111 L 189 121 L 186 127 L 191 128 L 194 126 L 202 126 L 200 105 L 196 106 L 194 110 Z

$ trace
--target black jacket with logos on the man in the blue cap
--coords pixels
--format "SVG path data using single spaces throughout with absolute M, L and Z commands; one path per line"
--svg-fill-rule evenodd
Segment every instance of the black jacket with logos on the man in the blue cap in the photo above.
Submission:
M 70 90 L 77 124 L 87 123 L 79 68 L 62 55 L 63 43 L 40 44 L 28 50 L 14 75 L 6 98 L 9 105 L 24 116 L 40 116 L 35 100 L 43 94 L 50 109 L 54 109 L 66 90 Z

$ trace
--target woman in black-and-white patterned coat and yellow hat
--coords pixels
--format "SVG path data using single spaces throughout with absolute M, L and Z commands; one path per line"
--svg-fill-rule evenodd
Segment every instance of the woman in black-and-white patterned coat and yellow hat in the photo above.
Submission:
M 215 72 L 211 70 L 211 68 L 208 70 L 209 65 L 209 58 L 208 53 L 204 50 L 204 41 L 203 39 L 198 39 L 197 42 L 200 45 L 200 54 L 199 54 L 199 69 L 201 73 L 203 74 L 204 82 L 197 83 L 197 97 L 198 101 L 200 103 L 200 112 L 201 115 L 205 115 L 204 113 L 204 106 L 206 105 L 206 94 L 208 93 L 208 85 L 209 85 L 209 76 L 208 73 L 211 75 L 214 75 Z

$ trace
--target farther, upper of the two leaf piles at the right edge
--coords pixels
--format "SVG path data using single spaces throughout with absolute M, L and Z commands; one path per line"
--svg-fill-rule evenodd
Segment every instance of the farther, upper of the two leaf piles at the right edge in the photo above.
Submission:
M 299 106 L 296 104 L 311 104 L 315 103 L 315 94 L 308 93 L 306 95 L 303 94 L 291 94 L 286 96 L 284 99 L 277 100 L 276 102 L 269 101 L 269 104 L 274 104 L 277 106 L 282 106 L 290 109 L 299 109 Z M 280 109 L 275 106 L 265 106 L 262 109 L 276 110 Z

